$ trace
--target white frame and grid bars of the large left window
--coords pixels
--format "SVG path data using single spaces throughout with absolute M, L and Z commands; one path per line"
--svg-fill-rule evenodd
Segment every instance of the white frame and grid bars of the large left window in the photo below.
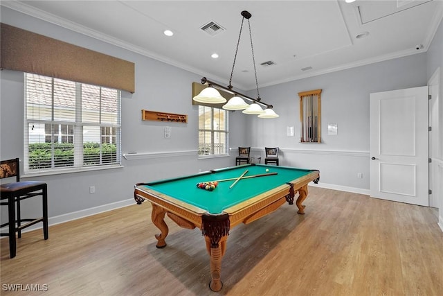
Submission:
M 100 107 L 99 107 L 99 112 L 100 112 L 100 116 L 99 116 L 99 121 L 98 123 L 91 123 L 89 121 L 87 121 L 87 119 L 83 119 L 82 120 L 82 87 L 84 85 L 87 85 L 85 83 L 81 83 L 81 82 L 73 82 L 73 81 L 69 81 L 75 84 L 75 103 L 73 107 L 73 111 L 75 113 L 74 117 L 75 119 L 69 119 L 69 121 L 63 121 L 62 120 L 55 120 L 55 117 L 53 115 L 54 111 L 52 112 L 52 116 L 51 119 L 42 119 L 41 116 L 39 116 L 38 119 L 33 119 L 30 118 L 28 119 L 28 104 L 32 104 L 28 102 L 28 82 L 30 80 L 32 80 L 33 78 L 28 78 L 28 75 L 32 75 L 32 76 L 42 76 L 45 78 L 49 78 L 51 80 L 51 105 L 48 105 L 48 108 L 51 108 L 51 110 L 54 110 L 55 107 L 60 107 L 59 105 L 56 105 L 55 101 L 54 101 L 54 85 L 55 85 L 55 80 L 60 80 L 60 78 L 51 78 L 49 76 L 43 76 L 43 75 L 39 75 L 39 74 L 33 74 L 33 73 L 24 73 L 24 170 L 23 170 L 23 177 L 33 177 L 33 176 L 40 176 L 40 175 L 58 175 L 58 174 L 62 174 L 62 173 L 75 173 L 75 172 L 80 172 L 80 171 L 97 171 L 97 170 L 103 170 L 103 169 L 109 169 L 109 168 L 120 168 L 123 167 L 122 166 L 122 153 L 121 153 L 121 132 L 122 132 L 122 128 L 121 128 L 121 91 L 119 89 L 110 89 L 109 87 L 100 87 L 100 86 L 96 86 L 96 85 L 91 85 L 92 87 L 98 87 L 99 88 L 99 96 L 100 96 Z M 38 87 L 36 87 L 35 89 L 39 89 Z M 114 116 L 116 116 L 116 123 L 109 123 L 109 122 L 102 122 L 102 105 L 101 105 L 101 101 L 102 101 L 102 89 L 110 89 L 111 92 L 116 92 L 116 99 L 118 100 L 118 102 L 116 103 L 116 111 L 113 112 L 112 114 L 114 114 Z M 63 107 L 63 106 L 62 106 Z M 37 169 L 32 169 L 30 168 L 30 151 L 29 151 L 29 146 L 31 143 L 33 143 L 32 141 L 30 141 L 30 124 L 39 124 L 39 125 L 44 125 L 43 129 L 44 129 L 44 137 L 43 137 L 43 141 L 38 141 L 37 143 L 47 143 L 46 139 L 47 139 L 47 134 L 46 134 L 46 126 L 47 125 L 52 125 L 52 126 L 56 126 L 58 127 L 58 132 L 52 132 L 52 136 L 56 136 L 58 137 L 58 139 L 55 141 L 55 139 L 52 139 L 51 141 L 51 146 L 52 146 L 52 151 L 51 151 L 51 167 L 50 168 L 37 168 Z M 62 133 L 62 125 L 66 125 L 66 129 L 68 130 L 68 132 L 66 134 Z M 73 126 L 73 134 L 71 134 L 71 130 L 69 128 L 69 125 Z M 99 146 L 99 159 L 100 159 L 100 164 L 87 164 L 85 162 L 87 162 L 88 159 L 84 159 L 84 139 L 83 139 L 83 131 L 85 127 L 96 127 L 99 130 L 99 134 L 98 134 L 98 146 Z M 42 126 L 40 126 L 40 128 L 42 128 Z M 102 158 L 102 136 L 105 136 L 107 138 L 109 138 L 109 135 L 102 135 L 101 131 L 103 128 L 110 128 L 111 130 L 117 130 L 118 134 L 116 134 L 116 143 L 114 143 L 116 145 L 116 154 L 115 154 L 115 161 L 114 159 L 111 158 L 111 162 L 107 163 L 107 162 L 103 162 L 104 160 L 106 161 L 107 159 Z M 60 166 L 57 167 L 55 166 L 55 153 L 54 153 L 54 147 L 53 147 L 53 143 L 64 143 L 63 141 L 63 137 L 66 138 L 71 138 L 73 137 L 73 164 L 70 166 Z M 66 142 L 70 142 L 69 140 Z M 109 143 L 109 141 L 107 141 L 107 143 Z M 114 153 L 112 153 L 113 157 L 114 157 Z

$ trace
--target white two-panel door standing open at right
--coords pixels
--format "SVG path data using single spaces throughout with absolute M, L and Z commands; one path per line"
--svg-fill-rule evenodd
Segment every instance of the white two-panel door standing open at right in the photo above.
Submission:
M 370 194 L 428 206 L 428 87 L 370 94 Z

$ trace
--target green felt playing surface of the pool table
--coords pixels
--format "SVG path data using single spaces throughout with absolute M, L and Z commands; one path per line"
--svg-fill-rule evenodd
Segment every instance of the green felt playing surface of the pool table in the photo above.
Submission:
M 229 189 L 229 186 L 232 185 L 235 180 L 219 182 L 217 188 L 213 191 L 197 188 L 197 183 L 199 182 L 239 177 L 246 170 L 248 170 L 248 173 L 246 173 L 245 177 L 248 175 L 265 174 L 268 173 L 266 172 L 266 168 L 269 168 L 269 173 L 277 173 L 277 175 L 242 179 L 231 189 Z M 253 198 L 261 193 L 275 189 L 287 182 L 292 182 L 312 171 L 314 170 L 289 168 L 284 166 L 266 166 L 264 164 L 233 166 L 230 168 L 215 170 L 214 173 L 205 172 L 170 180 L 150 182 L 144 186 L 182 202 L 205 209 L 210 214 L 220 214 L 228 207 L 232 207 L 239 202 L 244 202 L 249 198 Z

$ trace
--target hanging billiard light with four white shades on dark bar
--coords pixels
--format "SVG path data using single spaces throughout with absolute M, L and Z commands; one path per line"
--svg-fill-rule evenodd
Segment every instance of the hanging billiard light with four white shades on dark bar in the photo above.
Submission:
M 253 43 L 252 43 L 251 23 L 249 22 L 249 19 L 252 17 L 252 15 L 251 15 L 251 13 L 249 13 L 246 10 L 243 10 L 241 15 L 242 15 L 242 24 L 240 26 L 240 33 L 239 33 L 238 41 L 237 41 L 237 48 L 235 49 L 235 55 L 234 55 L 233 69 L 232 69 L 232 71 L 230 71 L 230 79 L 229 79 L 228 87 L 224 87 L 224 86 L 219 85 L 215 82 L 209 81 L 208 79 L 206 79 L 206 77 L 204 77 L 204 78 L 201 78 L 201 83 L 208 85 L 208 87 L 206 87 L 204 90 L 202 90 L 200 92 L 200 94 L 198 94 L 197 96 L 195 96 L 192 99 L 194 101 L 197 101 L 200 103 L 210 103 L 210 104 L 225 103 L 226 99 L 223 98 L 223 96 L 221 96 L 221 94 L 217 91 L 217 89 L 222 89 L 230 94 L 233 94 L 233 98 L 230 98 L 228 103 L 226 103 L 226 105 L 223 105 L 223 109 L 225 109 L 225 110 L 243 110 L 242 113 L 244 113 L 244 114 L 255 114 L 255 115 L 258 115 L 258 117 L 260 117 L 260 118 L 276 118 L 276 117 L 278 117 L 278 114 L 276 114 L 272 110 L 273 106 L 261 102 L 260 93 L 258 92 L 257 70 L 255 69 L 255 57 L 254 57 L 254 49 L 253 49 Z M 255 73 L 255 86 L 257 87 L 257 98 L 251 98 L 251 97 L 246 96 L 244 94 L 240 94 L 239 92 L 233 91 L 233 86 L 231 84 L 231 82 L 233 80 L 235 60 L 237 59 L 237 52 L 238 52 L 240 37 L 242 36 L 244 19 L 248 20 L 249 37 L 251 38 L 251 51 L 252 51 L 252 59 L 253 59 L 254 73 Z M 251 101 L 252 104 L 248 105 L 248 103 L 244 102 L 244 99 Z M 266 106 L 266 110 L 263 110 L 259 104 Z

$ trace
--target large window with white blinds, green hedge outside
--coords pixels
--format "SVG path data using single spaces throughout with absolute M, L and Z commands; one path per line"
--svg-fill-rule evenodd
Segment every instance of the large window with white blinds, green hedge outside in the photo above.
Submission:
M 25 73 L 24 172 L 120 165 L 120 91 Z

